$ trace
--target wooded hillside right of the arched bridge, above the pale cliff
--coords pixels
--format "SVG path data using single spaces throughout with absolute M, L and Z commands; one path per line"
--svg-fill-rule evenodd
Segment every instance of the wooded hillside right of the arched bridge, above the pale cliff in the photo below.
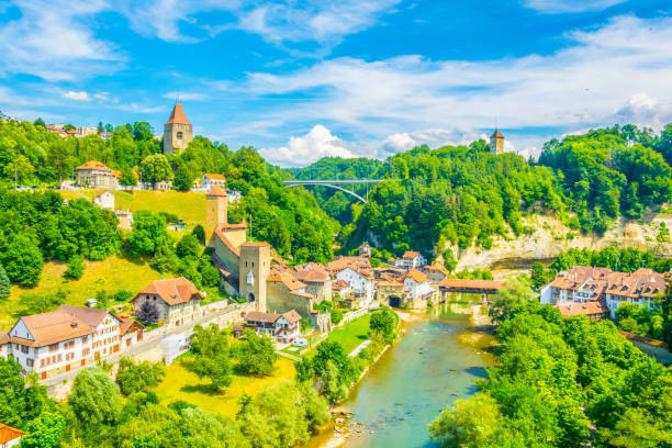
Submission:
M 670 201 L 670 154 L 672 125 L 660 135 L 628 125 L 552 139 L 538 163 L 515 154 L 493 155 L 479 141 L 469 147 L 417 147 L 376 170 L 366 159 L 326 159 L 293 173 L 301 179 L 325 172 L 338 177 L 334 169 L 343 167 L 349 175 L 389 179 L 370 192 L 363 208 L 355 203 L 349 209 L 352 223 L 340 232 L 345 249 L 369 240 L 397 255 L 412 247 L 432 256 L 446 242 L 488 249 L 495 235 L 531 233 L 520 217 L 533 212 L 553 213 L 578 232 L 601 235 L 618 216 L 640 217 Z M 346 201 L 354 203 L 333 194 L 322 206 L 344 223 L 347 205 L 340 202 Z

